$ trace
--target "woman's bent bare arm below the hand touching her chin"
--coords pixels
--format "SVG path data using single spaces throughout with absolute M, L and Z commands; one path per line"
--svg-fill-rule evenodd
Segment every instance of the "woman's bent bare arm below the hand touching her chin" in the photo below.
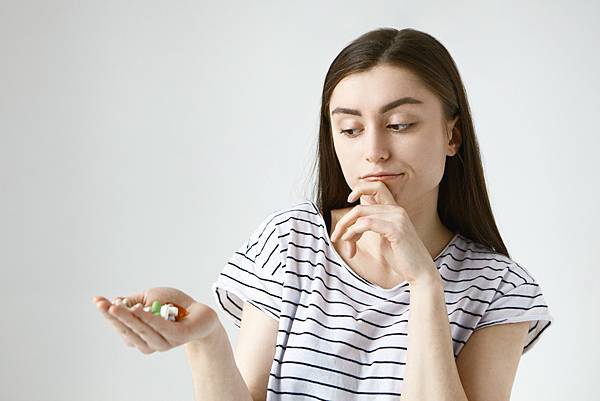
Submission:
M 508 401 L 528 322 L 474 332 L 454 358 L 440 276 L 410 288 L 403 401 Z

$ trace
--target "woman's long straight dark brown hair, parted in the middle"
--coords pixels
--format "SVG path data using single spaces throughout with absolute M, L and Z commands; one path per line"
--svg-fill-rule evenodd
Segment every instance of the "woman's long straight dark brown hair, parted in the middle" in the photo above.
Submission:
M 454 60 L 433 36 L 415 29 L 380 28 L 367 32 L 347 45 L 333 60 L 323 84 L 319 142 L 316 205 L 330 224 L 332 209 L 348 203 L 351 188 L 344 179 L 331 136 L 329 102 L 336 85 L 346 76 L 386 64 L 410 70 L 442 103 L 444 118 L 457 115 L 462 136 L 458 153 L 446 157 L 439 185 L 437 212 L 442 224 L 453 232 L 478 242 L 510 258 L 492 214 L 479 145 L 471 120 L 467 94 Z M 313 173 L 315 166 L 313 165 Z

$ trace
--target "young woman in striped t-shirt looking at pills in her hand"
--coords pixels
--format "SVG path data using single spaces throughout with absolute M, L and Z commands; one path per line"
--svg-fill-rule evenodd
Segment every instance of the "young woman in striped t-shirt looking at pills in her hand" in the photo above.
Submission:
M 186 344 L 201 399 L 508 400 L 553 318 L 498 232 L 445 47 L 387 28 L 343 49 L 318 162 L 317 202 L 266 216 L 213 285 L 235 355 L 217 312 L 175 289 L 99 309 L 144 353 Z M 144 312 L 159 299 L 189 316 Z

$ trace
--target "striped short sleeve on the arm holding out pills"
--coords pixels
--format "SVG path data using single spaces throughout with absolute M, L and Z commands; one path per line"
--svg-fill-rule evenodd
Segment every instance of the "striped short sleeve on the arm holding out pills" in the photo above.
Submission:
M 277 214 L 273 212 L 263 219 L 212 285 L 217 305 L 237 327 L 241 326 L 244 302 L 279 320 L 285 266 Z

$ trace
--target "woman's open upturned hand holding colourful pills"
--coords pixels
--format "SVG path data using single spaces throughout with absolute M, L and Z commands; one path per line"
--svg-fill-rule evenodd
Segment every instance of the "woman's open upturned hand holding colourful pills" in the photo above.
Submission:
M 122 303 L 123 298 L 128 299 L 131 308 Z M 117 297 L 114 301 L 112 303 L 101 296 L 93 299 L 125 343 L 137 347 L 144 354 L 164 352 L 191 341 L 203 340 L 213 332 L 219 321 L 214 309 L 170 287 L 151 288 L 131 296 Z M 154 301 L 183 306 L 188 315 L 174 322 L 145 312 L 143 308 L 151 306 Z

